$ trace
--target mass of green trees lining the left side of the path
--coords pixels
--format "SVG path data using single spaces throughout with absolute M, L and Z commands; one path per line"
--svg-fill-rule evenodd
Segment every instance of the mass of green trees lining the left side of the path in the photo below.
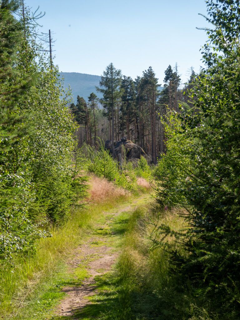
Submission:
M 36 41 L 37 16 L 23 2 L 0 1 L 1 262 L 31 252 L 49 235 L 44 225 L 62 223 L 84 195 L 68 96 Z

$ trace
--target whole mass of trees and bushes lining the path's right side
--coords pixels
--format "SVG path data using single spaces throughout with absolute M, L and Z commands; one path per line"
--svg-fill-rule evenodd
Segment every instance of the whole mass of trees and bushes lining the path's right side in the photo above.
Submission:
M 209 68 L 196 77 L 192 89 L 198 124 L 192 125 L 196 116 L 191 121 L 184 110 L 175 116 L 167 155 L 156 171 L 158 200 L 188 209 L 189 229 L 178 239 L 184 252 L 171 251 L 180 285 L 186 288 L 190 283 L 201 301 L 200 310 L 209 305 L 212 318 L 218 314 L 220 319 L 236 319 L 240 314 L 239 1 L 206 3 L 213 29 L 208 29 L 209 44 L 203 48 Z

